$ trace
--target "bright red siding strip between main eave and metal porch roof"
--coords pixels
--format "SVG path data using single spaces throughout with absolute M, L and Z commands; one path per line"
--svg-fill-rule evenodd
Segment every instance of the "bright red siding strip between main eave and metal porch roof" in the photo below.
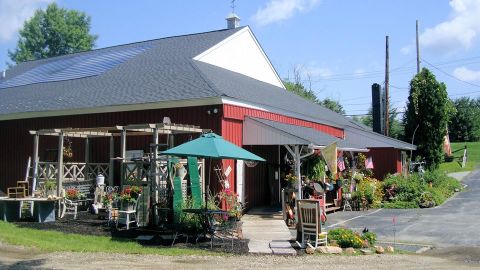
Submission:
M 251 109 L 251 108 L 230 105 L 230 104 L 223 105 L 224 119 L 230 118 L 230 119 L 243 121 L 245 119 L 245 116 L 264 118 L 264 119 L 273 120 L 273 121 L 291 124 L 291 125 L 311 127 L 318 131 L 330 134 L 338 138 L 343 139 L 344 137 L 344 132 L 343 132 L 343 129 L 341 128 L 332 127 L 324 124 L 318 124 L 310 121 L 305 121 L 298 118 L 293 118 L 293 117 L 272 113 L 272 112 L 266 112 L 266 111 Z

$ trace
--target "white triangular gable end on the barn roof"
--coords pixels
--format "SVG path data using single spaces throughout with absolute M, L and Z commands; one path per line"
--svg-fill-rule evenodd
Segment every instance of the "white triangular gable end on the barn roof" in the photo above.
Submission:
M 194 59 L 285 88 L 248 27 L 229 36 Z

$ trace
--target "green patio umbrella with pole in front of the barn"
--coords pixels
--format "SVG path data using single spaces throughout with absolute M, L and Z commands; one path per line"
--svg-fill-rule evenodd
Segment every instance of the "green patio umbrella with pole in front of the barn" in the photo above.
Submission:
M 181 156 L 181 157 L 203 157 L 210 159 L 208 179 L 205 192 L 205 205 L 208 199 L 208 189 L 211 174 L 211 159 L 237 159 L 237 160 L 253 160 L 265 161 L 265 159 L 248 152 L 247 150 L 226 141 L 215 133 L 202 134 L 199 138 L 170 148 L 161 152 L 162 155 Z

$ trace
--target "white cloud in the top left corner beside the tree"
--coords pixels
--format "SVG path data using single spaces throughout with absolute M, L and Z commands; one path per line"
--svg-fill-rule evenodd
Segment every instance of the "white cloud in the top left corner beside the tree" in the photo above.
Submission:
M 53 0 L 0 0 L 0 42 L 15 37 L 23 22 L 30 18 L 35 10 Z

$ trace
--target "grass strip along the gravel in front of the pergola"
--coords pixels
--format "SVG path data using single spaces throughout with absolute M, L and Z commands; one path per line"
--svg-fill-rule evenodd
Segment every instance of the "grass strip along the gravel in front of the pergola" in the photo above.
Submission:
M 41 231 L 19 228 L 14 224 L 0 221 L 0 242 L 34 247 L 40 251 L 107 252 L 158 255 L 219 255 L 199 249 L 170 247 L 144 247 L 135 241 L 117 240 L 107 236 L 66 234 L 56 231 Z

